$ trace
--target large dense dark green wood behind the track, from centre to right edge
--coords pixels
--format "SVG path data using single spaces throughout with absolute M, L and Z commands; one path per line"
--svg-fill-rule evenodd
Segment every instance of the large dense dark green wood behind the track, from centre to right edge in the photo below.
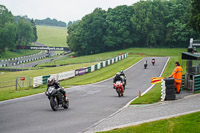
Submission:
M 187 47 L 191 37 L 199 37 L 188 26 L 192 10 L 191 0 L 147 0 L 108 11 L 97 8 L 68 26 L 67 43 L 78 55 L 128 47 Z

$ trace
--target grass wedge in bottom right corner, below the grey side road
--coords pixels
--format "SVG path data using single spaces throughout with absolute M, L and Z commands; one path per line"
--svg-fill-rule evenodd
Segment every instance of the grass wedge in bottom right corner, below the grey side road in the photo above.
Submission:
M 99 133 L 199 133 L 200 112 Z

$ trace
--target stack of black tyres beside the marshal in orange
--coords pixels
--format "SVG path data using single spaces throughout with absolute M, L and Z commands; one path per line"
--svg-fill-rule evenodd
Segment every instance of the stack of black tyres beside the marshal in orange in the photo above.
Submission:
M 165 87 L 166 87 L 166 96 L 165 100 L 175 100 L 176 94 L 175 94 L 175 86 L 174 86 L 174 79 L 173 78 L 167 78 L 165 80 Z

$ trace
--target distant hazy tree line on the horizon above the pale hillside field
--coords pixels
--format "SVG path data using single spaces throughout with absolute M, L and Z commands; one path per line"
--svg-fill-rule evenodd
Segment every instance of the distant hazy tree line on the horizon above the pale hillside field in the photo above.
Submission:
M 66 23 L 62 21 L 58 21 L 56 19 L 46 18 L 43 20 L 35 19 L 35 23 L 37 25 L 49 25 L 49 26 L 59 26 L 66 27 Z

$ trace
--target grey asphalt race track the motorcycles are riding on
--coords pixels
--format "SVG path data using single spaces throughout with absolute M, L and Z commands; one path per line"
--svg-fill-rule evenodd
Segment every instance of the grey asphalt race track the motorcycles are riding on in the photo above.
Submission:
M 144 58 L 125 71 L 127 87 L 123 97 L 118 97 L 112 88 L 112 79 L 96 84 L 74 86 L 67 89 L 70 107 L 67 110 L 52 111 L 44 94 L 0 102 L 1 133 L 78 133 L 115 113 L 129 101 L 143 93 L 151 84 L 152 77 L 158 77 L 168 58 Z M 144 69 L 144 61 L 148 67 Z

